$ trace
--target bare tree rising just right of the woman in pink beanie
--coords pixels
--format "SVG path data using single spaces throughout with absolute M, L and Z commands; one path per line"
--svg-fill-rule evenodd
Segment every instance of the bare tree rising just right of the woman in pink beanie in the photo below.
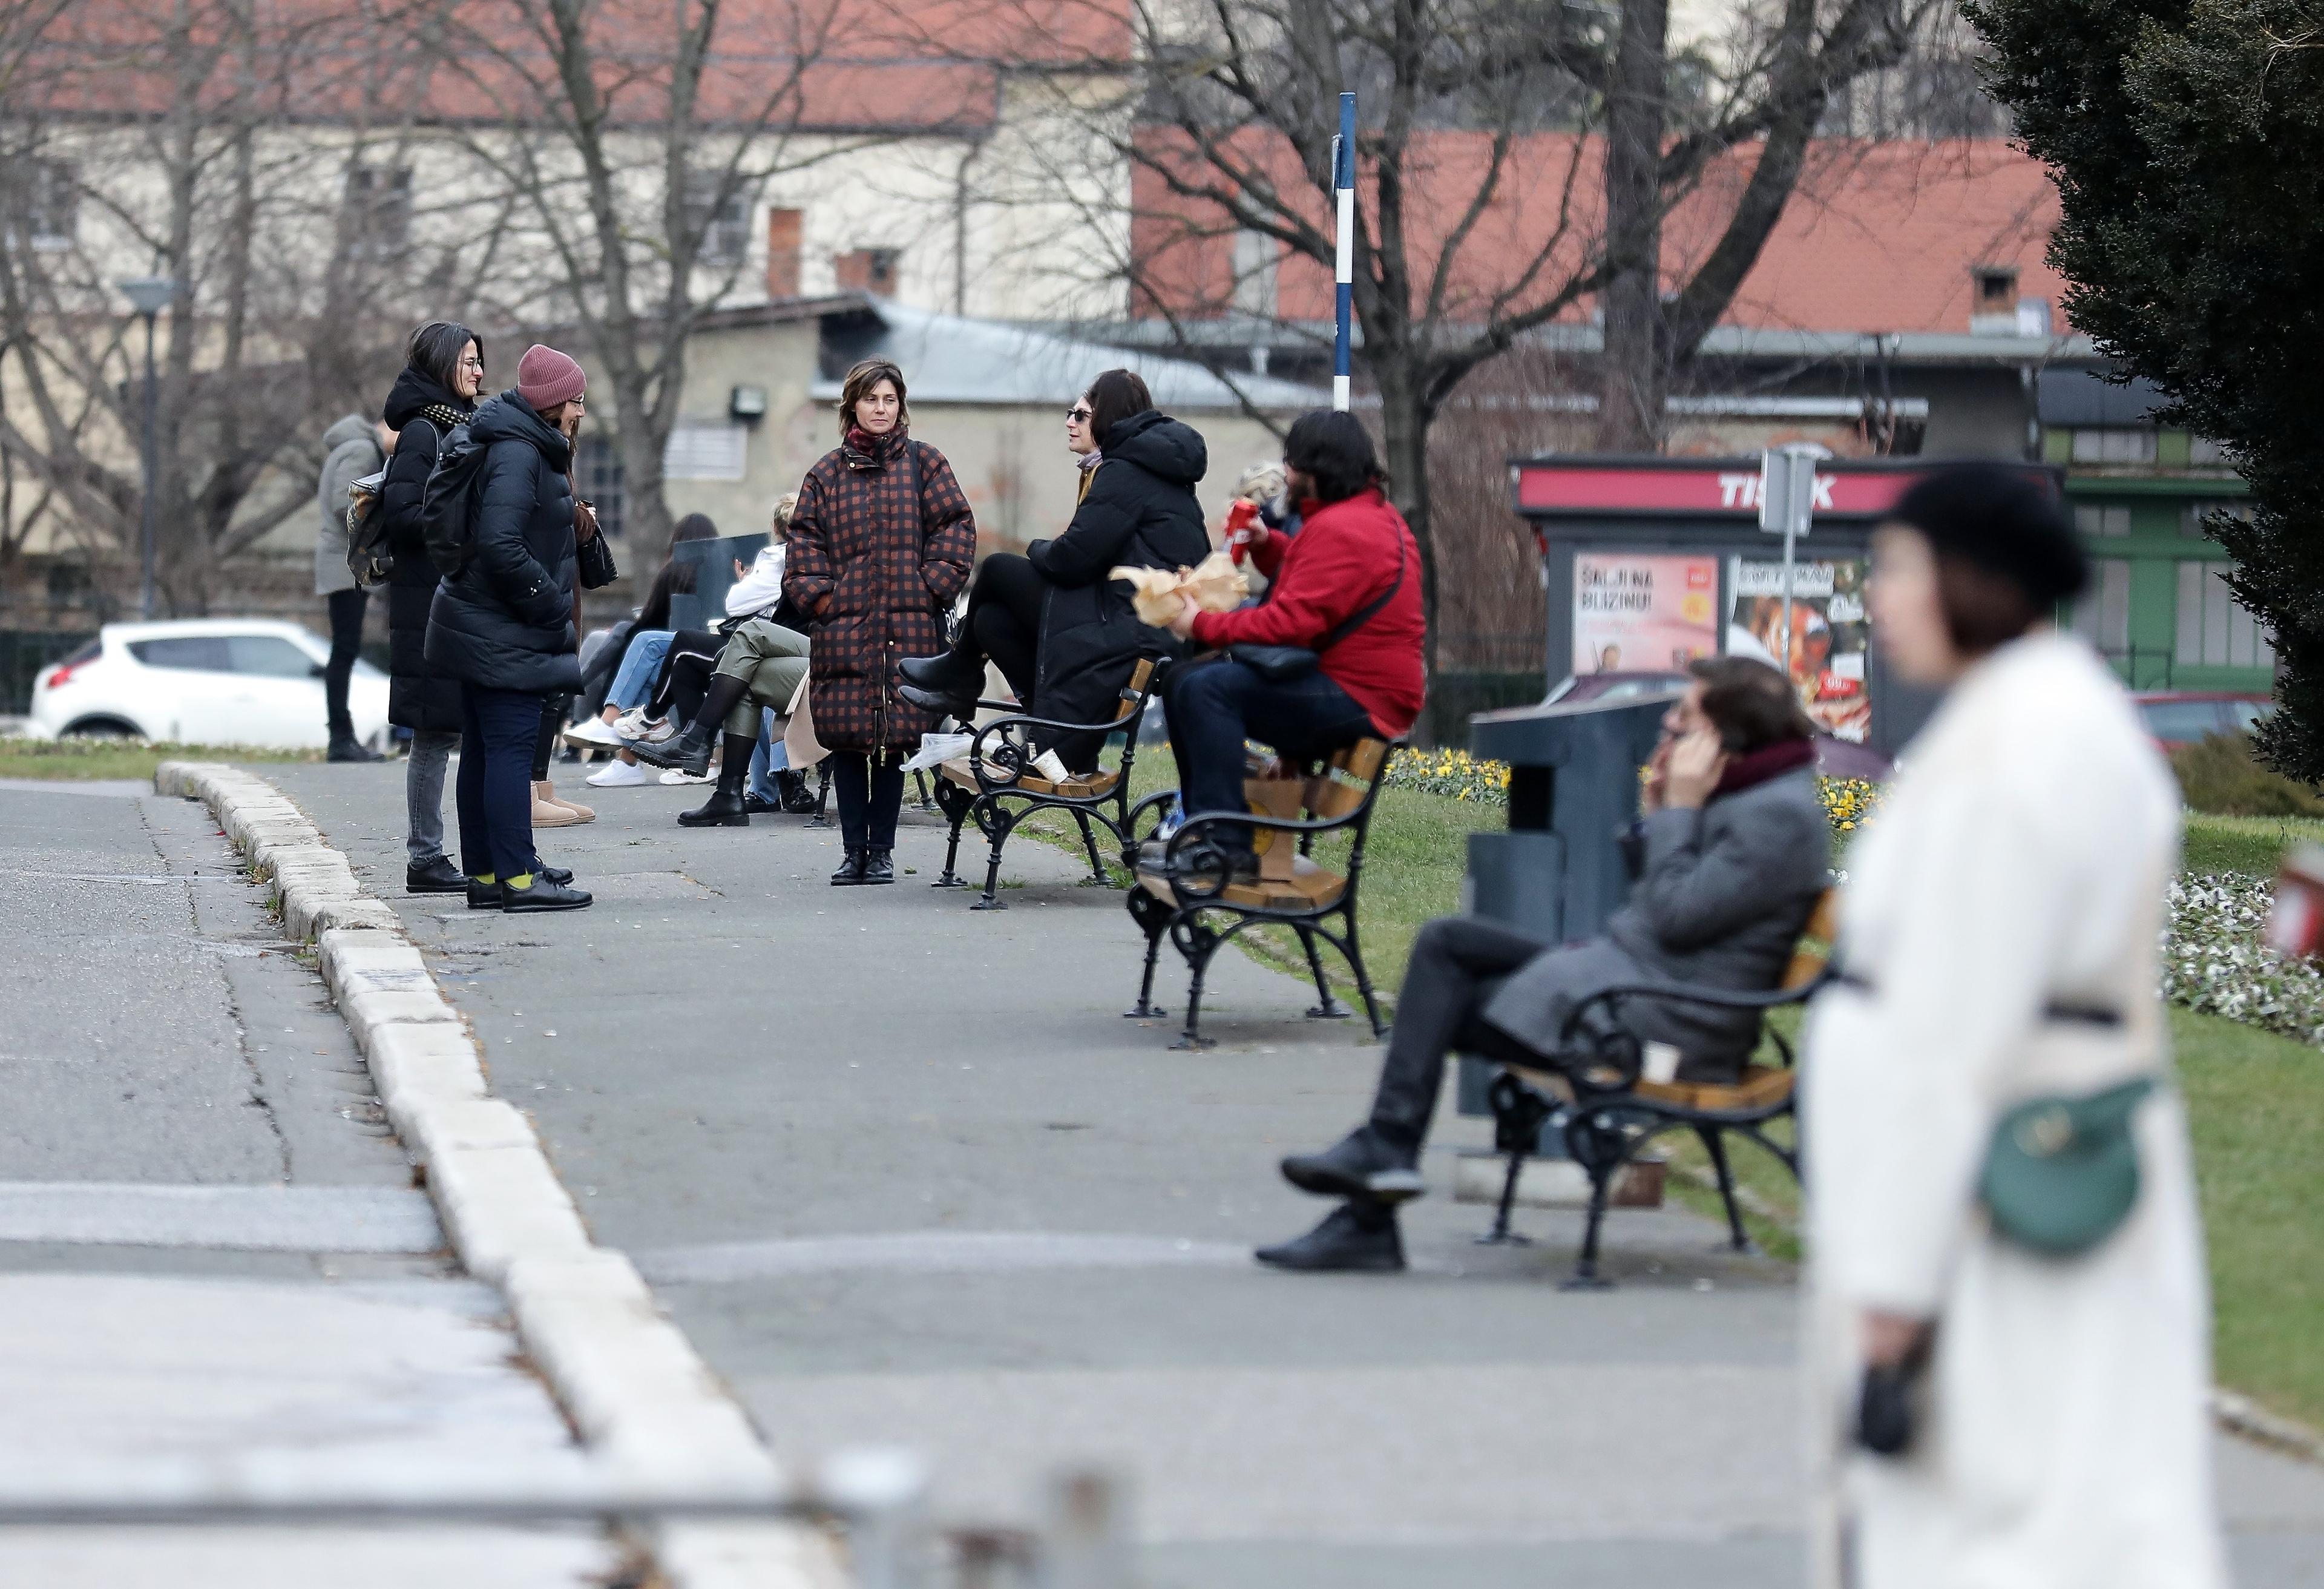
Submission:
M 444 72 L 500 107 L 465 151 L 521 246 L 481 293 L 532 325 L 576 325 L 611 386 L 630 525 L 669 539 L 662 451 L 688 339 L 748 260 L 767 181 L 874 142 L 799 137 L 839 0 L 446 0 Z M 876 121 L 881 116 L 867 116 Z

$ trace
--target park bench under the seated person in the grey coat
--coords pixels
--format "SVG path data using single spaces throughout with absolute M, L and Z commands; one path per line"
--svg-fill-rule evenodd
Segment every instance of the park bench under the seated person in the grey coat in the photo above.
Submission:
M 1604 987 L 1578 1001 L 1566 1015 L 1562 1045 L 1578 1055 L 1569 1071 L 1536 1071 L 1527 1066 L 1499 1066 L 1485 1101 L 1492 1108 L 1494 1150 L 1508 1155 L 1508 1175 L 1501 1182 L 1501 1203 L 1492 1229 L 1480 1236 L 1485 1243 L 1522 1241 L 1508 1229 L 1508 1210 L 1518 1201 L 1518 1175 L 1525 1159 L 1541 1141 L 1541 1127 L 1555 1115 L 1564 1115 L 1566 1152 L 1590 1178 L 1590 1213 L 1583 1227 L 1583 1250 L 1566 1289 L 1604 1289 L 1611 1285 L 1599 1275 L 1599 1229 L 1606 1222 L 1606 1206 L 1615 1178 L 1666 1131 L 1694 1131 L 1710 1155 L 1710 1169 L 1720 1180 L 1720 1201 L 1727 1208 L 1727 1236 L 1736 1252 L 1750 1250 L 1743 1231 L 1743 1213 L 1736 1206 L 1734 1169 L 1727 1159 L 1727 1136 L 1743 1136 L 1778 1162 L 1792 1178 L 1799 1178 L 1796 1148 L 1785 1148 L 1766 1134 L 1776 1120 L 1792 1117 L 1796 1127 L 1794 1085 L 1799 1069 L 1792 1043 L 1766 1027 L 1766 1038 L 1776 1045 L 1780 1064 L 1743 1066 L 1731 1083 L 1650 1080 L 1645 1076 L 1645 1045 L 1620 1029 L 1620 1020 L 1590 1022 L 1592 1011 L 1604 1008 L 1620 1015 L 1624 999 L 1659 999 L 1671 1004 L 1708 1004 L 1727 1011 L 1773 1011 L 1787 1004 L 1806 1004 L 1831 980 L 1831 939 L 1838 927 L 1838 892 L 1827 890 L 1808 918 L 1783 983 L 1771 992 L 1729 992 L 1722 987 L 1690 987 L 1683 983 L 1634 983 Z M 1796 1129 L 1794 1129 L 1796 1141 Z

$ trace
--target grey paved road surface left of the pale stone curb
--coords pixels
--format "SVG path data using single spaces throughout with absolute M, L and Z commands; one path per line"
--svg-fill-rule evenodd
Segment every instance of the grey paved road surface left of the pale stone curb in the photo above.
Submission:
M 576 1454 L 453 1271 L 346 1027 L 200 806 L 0 788 L 0 1489 Z M 565 1589 L 586 1531 L 0 1531 L 42 1589 Z

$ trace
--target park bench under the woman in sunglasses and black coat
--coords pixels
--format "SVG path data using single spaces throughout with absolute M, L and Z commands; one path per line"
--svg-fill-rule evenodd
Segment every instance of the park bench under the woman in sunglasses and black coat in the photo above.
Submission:
M 944 876 L 937 878 L 937 887 L 967 887 L 967 880 L 953 864 L 960 857 L 960 829 L 974 820 L 976 829 L 992 843 L 992 855 L 985 862 L 983 899 L 969 908 L 1006 911 L 1009 906 L 999 899 L 1002 848 L 1009 843 L 1009 834 L 1039 811 L 1069 811 L 1074 815 L 1074 822 L 1081 827 L 1081 843 L 1090 855 L 1092 880 L 1111 883 L 1113 878 L 1097 855 L 1097 832 L 1090 822 L 1104 822 L 1120 848 L 1122 867 L 1129 867 L 1129 769 L 1139 755 L 1139 720 L 1146 716 L 1146 702 L 1153 697 L 1160 678 L 1162 664 L 1153 657 L 1139 657 L 1139 664 L 1129 669 L 1129 678 L 1122 683 L 1120 711 L 1109 722 L 1057 722 L 1053 718 L 1034 718 L 1016 702 L 978 702 L 978 706 L 1009 716 L 974 729 L 976 739 L 969 741 L 969 753 L 941 764 L 944 778 L 937 785 L 937 806 L 951 818 L 953 832 L 944 850 Z M 1032 743 L 1034 732 L 1099 734 L 1109 739 L 1116 732 L 1125 732 L 1120 764 L 1097 767 L 1069 778 L 1043 778 L 1034 771 L 1034 757 L 1039 755 L 1039 748 Z

